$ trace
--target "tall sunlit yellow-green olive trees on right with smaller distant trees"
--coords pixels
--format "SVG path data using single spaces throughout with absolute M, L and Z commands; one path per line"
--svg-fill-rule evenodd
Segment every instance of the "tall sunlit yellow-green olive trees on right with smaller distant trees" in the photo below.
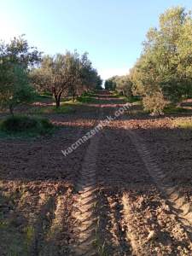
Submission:
M 143 52 L 127 79 L 132 94 L 142 96 L 144 108 L 152 113 L 162 113 L 167 104 L 192 96 L 191 12 L 176 7 L 160 15 L 158 28 L 149 29 Z M 105 87 L 119 90 L 128 84 L 117 83 L 114 77 Z

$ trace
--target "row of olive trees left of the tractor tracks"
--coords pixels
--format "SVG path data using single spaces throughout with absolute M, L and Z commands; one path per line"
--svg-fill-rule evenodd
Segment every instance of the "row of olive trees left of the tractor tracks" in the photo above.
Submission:
M 51 93 L 59 108 L 63 96 L 74 101 L 84 91 L 95 89 L 102 89 L 102 79 L 87 53 L 43 56 L 24 36 L 9 44 L 0 42 L 0 107 L 9 108 L 10 113 L 17 105 L 31 102 L 37 92 Z

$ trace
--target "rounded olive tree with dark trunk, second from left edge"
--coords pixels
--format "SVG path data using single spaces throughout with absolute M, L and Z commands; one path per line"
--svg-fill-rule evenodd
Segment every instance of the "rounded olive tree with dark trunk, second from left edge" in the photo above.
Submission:
M 57 108 L 61 105 L 61 97 L 72 96 L 74 101 L 84 91 L 102 84 L 87 53 L 79 55 L 76 51 L 44 56 L 41 67 L 32 70 L 31 79 L 38 91 L 49 91 L 55 97 Z

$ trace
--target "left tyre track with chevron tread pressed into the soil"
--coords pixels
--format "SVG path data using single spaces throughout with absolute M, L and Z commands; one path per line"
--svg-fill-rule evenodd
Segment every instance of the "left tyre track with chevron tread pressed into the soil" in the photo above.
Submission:
M 96 157 L 99 141 L 99 133 L 91 137 L 76 185 L 78 195 L 73 212 L 76 242 L 72 247 L 73 255 L 96 255 Z

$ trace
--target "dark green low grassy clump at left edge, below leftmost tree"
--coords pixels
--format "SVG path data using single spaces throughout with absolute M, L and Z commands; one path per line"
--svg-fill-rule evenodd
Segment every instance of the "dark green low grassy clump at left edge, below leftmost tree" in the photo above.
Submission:
M 37 137 L 51 135 L 55 130 L 49 119 L 29 116 L 10 116 L 0 123 L 0 135 L 9 137 Z

